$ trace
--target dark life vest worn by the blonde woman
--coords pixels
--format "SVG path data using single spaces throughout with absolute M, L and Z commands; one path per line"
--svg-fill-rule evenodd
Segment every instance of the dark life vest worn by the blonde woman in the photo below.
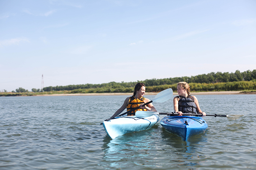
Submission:
M 179 111 L 182 111 L 182 113 L 196 114 L 196 104 L 192 96 L 188 95 L 187 97 L 183 97 L 183 96 L 177 96 L 177 97 L 179 97 L 179 102 L 178 102 Z

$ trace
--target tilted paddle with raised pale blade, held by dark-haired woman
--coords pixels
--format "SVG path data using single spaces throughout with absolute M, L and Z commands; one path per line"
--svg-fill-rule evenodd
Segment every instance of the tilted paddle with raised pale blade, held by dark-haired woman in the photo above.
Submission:
M 149 101 L 149 102 L 143 104 L 142 106 L 148 105 L 148 104 L 150 104 L 150 103 L 152 103 L 152 102 L 162 103 L 162 102 L 165 102 L 165 101 L 171 99 L 172 96 L 173 96 L 173 90 L 172 90 L 171 88 L 168 88 L 168 89 L 165 89 L 165 90 L 163 90 L 163 91 L 160 91 L 160 92 L 155 96 L 155 98 L 154 98 L 153 100 L 151 100 L 151 101 Z M 117 117 L 123 116 L 124 114 L 127 114 L 127 113 L 129 113 L 129 112 L 131 112 L 131 111 L 133 111 L 133 110 L 139 109 L 139 108 L 140 108 L 140 107 L 135 107 L 135 108 L 133 108 L 133 109 L 131 109 L 131 110 L 129 110 L 129 111 L 123 113 L 123 114 L 119 114 Z M 135 113 L 136 113 L 136 112 L 135 112 Z

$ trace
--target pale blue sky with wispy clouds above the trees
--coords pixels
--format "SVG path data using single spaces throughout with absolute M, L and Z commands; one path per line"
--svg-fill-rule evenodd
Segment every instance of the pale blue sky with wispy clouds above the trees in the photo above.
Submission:
M 255 69 L 255 0 L 0 0 L 1 92 Z

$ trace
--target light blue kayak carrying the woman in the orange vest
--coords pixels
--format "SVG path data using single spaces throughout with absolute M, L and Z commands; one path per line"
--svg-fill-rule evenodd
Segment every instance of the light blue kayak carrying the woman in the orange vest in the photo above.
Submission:
M 158 115 L 149 117 L 121 116 L 104 121 L 103 126 L 110 138 L 114 139 L 126 133 L 149 129 L 159 120 Z

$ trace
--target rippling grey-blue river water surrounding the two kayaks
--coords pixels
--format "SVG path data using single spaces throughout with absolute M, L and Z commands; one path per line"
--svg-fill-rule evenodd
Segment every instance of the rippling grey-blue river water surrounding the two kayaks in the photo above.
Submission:
M 236 170 L 256 168 L 256 95 L 198 95 L 208 128 L 187 141 L 158 122 L 111 139 L 100 123 L 128 96 L 0 97 L 1 170 Z M 145 96 L 154 99 L 155 96 Z M 173 111 L 173 100 L 154 103 Z M 160 119 L 164 116 L 161 115 Z

